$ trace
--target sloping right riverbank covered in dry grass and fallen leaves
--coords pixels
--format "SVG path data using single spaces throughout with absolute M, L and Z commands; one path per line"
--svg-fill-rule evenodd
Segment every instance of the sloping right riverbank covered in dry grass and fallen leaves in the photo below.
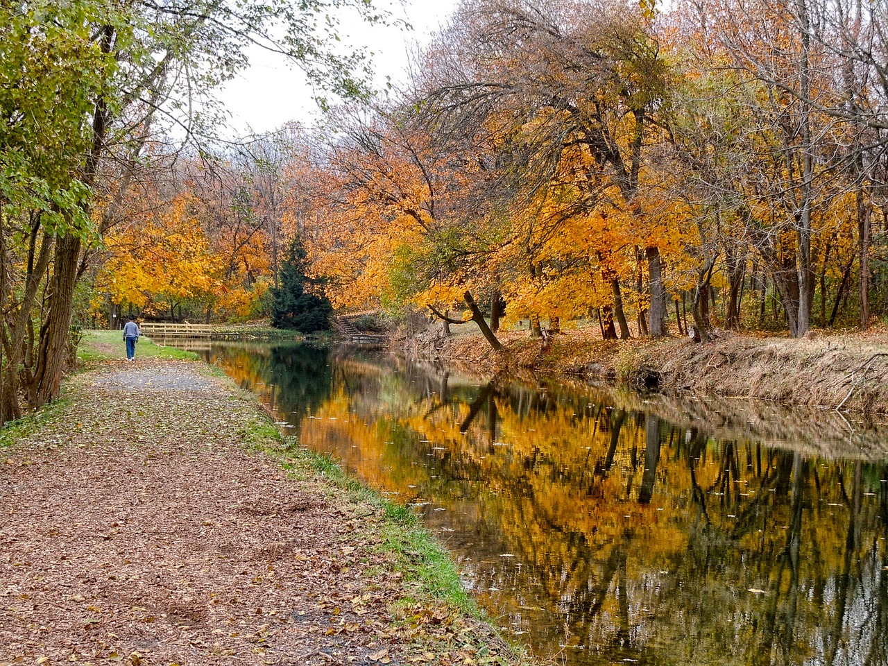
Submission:
M 484 337 L 425 338 L 411 355 L 474 373 L 533 370 L 591 382 L 657 385 L 664 392 L 731 396 L 783 404 L 888 414 L 888 328 L 813 334 L 803 339 L 725 332 L 708 344 L 686 338 L 602 340 L 593 329 L 566 330 L 545 342 L 527 331 Z

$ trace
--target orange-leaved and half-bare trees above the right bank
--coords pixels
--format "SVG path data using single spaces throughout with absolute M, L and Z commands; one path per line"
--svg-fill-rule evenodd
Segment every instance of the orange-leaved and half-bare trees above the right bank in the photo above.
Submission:
M 878 66 L 836 40 L 876 10 L 849 4 L 835 32 L 813 2 L 705 9 L 464 4 L 409 90 L 340 116 L 314 166 L 338 302 L 446 313 L 469 290 L 507 321 L 599 315 L 605 337 L 801 336 L 840 301 L 867 321 Z M 691 312 L 667 321 L 672 300 Z

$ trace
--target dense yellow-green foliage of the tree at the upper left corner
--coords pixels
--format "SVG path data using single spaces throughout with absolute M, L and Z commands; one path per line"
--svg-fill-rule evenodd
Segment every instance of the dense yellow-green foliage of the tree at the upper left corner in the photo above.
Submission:
M 83 155 L 115 68 L 83 3 L 0 9 L 0 194 L 6 215 L 37 211 L 51 232 L 90 234 Z

